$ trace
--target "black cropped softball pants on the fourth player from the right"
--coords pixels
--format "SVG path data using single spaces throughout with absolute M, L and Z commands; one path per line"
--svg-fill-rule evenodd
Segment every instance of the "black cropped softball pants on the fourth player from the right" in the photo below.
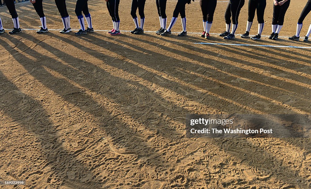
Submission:
M 232 16 L 232 23 L 238 24 L 239 23 L 239 15 L 241 8 L 244 6 L 245 0 L 230 0 L 225 12 L 225 22 L 226 24 L 231 23 L 231 16 Z

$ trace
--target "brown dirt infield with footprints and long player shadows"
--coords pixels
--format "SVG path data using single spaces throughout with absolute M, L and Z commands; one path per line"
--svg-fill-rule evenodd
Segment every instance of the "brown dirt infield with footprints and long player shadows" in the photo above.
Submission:
M 121 2 L 120 29 L 132 30 L 131 1 Z M 168 22 L 175 2 L 168 0 Z M 295 34 L 305 2 L 291 2 L 280 36 Z M 224 30 L 226 5 L 218 2 L 211 33 Z M 72 28 L 78 29 L 75 1 L 67 7 Z M 104 1 L 89 0 L 89 7 L 94 29 L 111 30 Z M 54 1 L 44 1 L 44 9 L 48 28 L 62 29 Z M 16 10 L 22 29 L 40 26 L 30 2 L 16 4 Z M 12 28 L 7 8 L 0 11 L 4 28 Z M 146 1 L 145 12 L 145 30 L 158 30 L 153 0 Z M 201 32 L 199 3 L 186 5 L 186 15 L 188 32 Z M 247 1 L 238 34 L 246 19 Z M 265 20 L 263 35 L 269 35 L 269 0 Z M 181 31 L 180 18 L 172 31 Z M 15 188 L 311 187 L 309 139 L 185 137 L 190 113 L 311 113 L 311 49 L 195 43 L 310 44 L 151 32 L 80 37 L 55 30 L 7 32 L 0 35 L 0 180 L 26 181 Z M 250 33 L 257 33 L 255 22 Z

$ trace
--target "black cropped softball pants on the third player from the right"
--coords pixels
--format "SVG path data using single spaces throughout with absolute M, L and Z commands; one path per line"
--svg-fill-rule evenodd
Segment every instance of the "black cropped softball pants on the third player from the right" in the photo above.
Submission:
M 264 23 L 263 15 L 266 8 L 266 0 L 249 0 L 248 1 L 248 21 L 253 22 L 255 11 L 257 12 L 258 24 Z

